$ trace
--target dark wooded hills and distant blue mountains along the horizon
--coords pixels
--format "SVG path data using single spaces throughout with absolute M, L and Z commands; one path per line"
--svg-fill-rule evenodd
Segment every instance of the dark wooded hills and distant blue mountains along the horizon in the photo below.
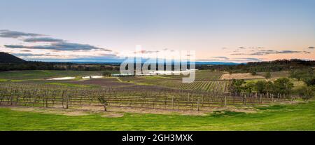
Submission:
M 25 61 L 19 57 L 8 53 L 0 52 L 0 71 L 16 70 L 73 70 L 73 71 L 107 71 L 119 70 L 120 63 L 124 60 L 111 62 L 111 60 L 102 59 L 101 61 L 92 61 L 85 58 L 83 61 L 61 60 L 56 61 Z M 143 61 L 144 63 L 146 61 Z M 132 61 L 131 61 L 132 63 Z M 95 65 L 93 65 L 95 64 Z M 174 65 L 174 61 L 167 62 L 165 65 Z M 190 67 L 189 63 L 187 63 Z M 242 72 L 265 72 L 265 71 L 292 71 L 295 69 L 309 69 L 315 67 L 314 60 L 274 60 L 269 62 L 248 62 L 237 64 L 233 62 L 195 62 L 196 69 L 222 70 L 234 73 Z

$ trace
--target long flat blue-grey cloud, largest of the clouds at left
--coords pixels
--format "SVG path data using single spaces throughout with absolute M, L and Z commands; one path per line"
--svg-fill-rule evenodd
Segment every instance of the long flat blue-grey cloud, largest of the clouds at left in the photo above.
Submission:
M 104 50 L 111 51 L 105 48 L 98 48 L 95 46 L 90 46 L 88 44 L 79 43 L 51 43 L 45 46 L 22 46 L 22 45 L 4 45 L 6 48 L 28 48 L 28 49 L 41 49 L 41 50 Z

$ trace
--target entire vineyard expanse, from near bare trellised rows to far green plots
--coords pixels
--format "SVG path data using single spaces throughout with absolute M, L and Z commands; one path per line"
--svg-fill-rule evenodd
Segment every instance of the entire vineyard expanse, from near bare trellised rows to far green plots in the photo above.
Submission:
M 221 106 L 273 104 L 286 102 L 292 98 L 255 93 L 232 95 L 228 91 L 231 81 L 220 80 L 222 71 L 197 71 L 197 81 L 193 83 L 181 83 L 180 76 L 127 76 L 48 81 L 46 77 L 60 76 L 59 72 L 38 73 L 41 74 L 38 78 L 31 72 L 24 76 L 14 76 L 15 73 L 12 73 L 8 78 L 18 81 L 0 82 L 0 105 L 66 109 L 106 106 L 207 111 Z M 20 71 L 16 74 L 20 74 Z M 79 74 L 85 75 L 82 72 Z

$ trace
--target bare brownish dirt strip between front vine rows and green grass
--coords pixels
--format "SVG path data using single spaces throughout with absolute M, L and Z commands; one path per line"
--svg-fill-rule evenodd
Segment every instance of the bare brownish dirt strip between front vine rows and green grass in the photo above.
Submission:
M 134 108 L 127 106 L 109 106 L 107 111 L 104 111 L 103 106 L 72 106 L 69 109 L 64 109 L 62 106 L 58 107 L 31 107 L 31 106 L 0 106 L 6 107 L 13 111 L 28 111 L 45 114 L 55 114 L 64 116 L 88 116 L 91 114 L 99 114 L 102 117 L 117 118 L 123 117 L 124 113 L 152 113 L 163 115 L 182 115 L 182 116 L 207 116 L 213 111 L 235 111 L 244 113 L 256 113 L 257 110 L 253 107 L 213 107 L 204 110 L 178 110 L 178 109 L 151 109 L 151 108 Z

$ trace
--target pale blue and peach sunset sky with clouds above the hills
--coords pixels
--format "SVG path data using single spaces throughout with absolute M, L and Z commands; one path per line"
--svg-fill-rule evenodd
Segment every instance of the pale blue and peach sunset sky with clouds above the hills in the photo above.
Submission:
M 197 61 L 315 60 L 314 0 L 2 0 L 0 51 L 115 62 L 195 50 Z M 130 56 L 129 55 L 129 56 Z

